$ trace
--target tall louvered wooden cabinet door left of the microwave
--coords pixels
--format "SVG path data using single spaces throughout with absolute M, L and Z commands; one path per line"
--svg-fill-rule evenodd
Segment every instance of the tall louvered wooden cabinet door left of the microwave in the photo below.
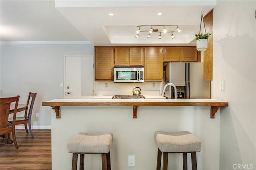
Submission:
M 113 47 L 95 47 L 95 81 L 112 81 Z

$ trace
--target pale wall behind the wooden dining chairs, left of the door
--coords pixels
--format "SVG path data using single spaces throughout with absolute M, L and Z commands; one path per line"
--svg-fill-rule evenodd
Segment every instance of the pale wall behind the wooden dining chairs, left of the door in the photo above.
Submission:
M 64 55 L 94 55 L 93 45 L 1 45 L 1 97 L 20 95 L 26 103 L 28 93 L 37 93 L 32 126 L 49 128 L 51 108 L 42 101 L 64 97 Z M 35 118 L 39 113 L 39 118 Z

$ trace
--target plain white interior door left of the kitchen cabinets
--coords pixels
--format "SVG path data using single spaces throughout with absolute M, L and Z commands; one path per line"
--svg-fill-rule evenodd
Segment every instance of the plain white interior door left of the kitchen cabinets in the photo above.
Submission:
M 94 92 L 93 56 L 65 56 L 65 97 L 86 98 Z

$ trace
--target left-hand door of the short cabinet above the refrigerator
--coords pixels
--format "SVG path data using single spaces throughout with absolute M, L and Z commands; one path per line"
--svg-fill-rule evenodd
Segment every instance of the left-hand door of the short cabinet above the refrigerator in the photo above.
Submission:
M 180 47 L 164 47 L 164 61 L 180 61 Z

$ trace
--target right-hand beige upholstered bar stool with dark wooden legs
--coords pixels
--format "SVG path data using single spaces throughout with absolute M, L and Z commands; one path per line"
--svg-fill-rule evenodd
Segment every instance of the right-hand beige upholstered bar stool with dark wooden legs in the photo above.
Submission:
M 197 170 L 196 152 L 201 150 L 201 141 L 191 132 L 162 132 L 156 131 L 154 134 L 158 146 L 156 170 L 161 169 L 161 157 L 163 152 L 163 170 L 167 170 L 168 154 L 183 154 L 183 170 L 187 170 L 187 153 L 191 153 L 192 170 Z

